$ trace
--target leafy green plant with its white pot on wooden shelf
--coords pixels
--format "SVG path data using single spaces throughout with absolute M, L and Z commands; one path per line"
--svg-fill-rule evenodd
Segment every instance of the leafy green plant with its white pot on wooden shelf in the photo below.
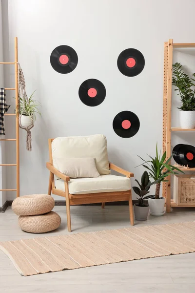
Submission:
M 195 77 L 195 73 L 193 73 Z M 195 84 L 194 79 L 189 78 L 182 68 L 181 63 L 173 64 L 172 84 L 176 86 L 176 91 L 182 103 L 179 111 L 181 128 L 195 128 Z

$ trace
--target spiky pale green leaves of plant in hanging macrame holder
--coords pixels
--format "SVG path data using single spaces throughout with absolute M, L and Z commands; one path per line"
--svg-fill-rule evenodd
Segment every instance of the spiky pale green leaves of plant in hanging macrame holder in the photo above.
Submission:
M 32 95 L 28 99 L 28 102 L 24 100 L 24 103 L 23 103 L 23 99 L 20 97 L 19 98 L 20 102 L 17 106 L 20 115 L 30 116 L 33 120 L 36 119 L 36 114 L 39 114 L 41 116 L 41 113 L 38 108 L 40 103 L 33 99 L 34 93 L 35 91 L 32 93 Z

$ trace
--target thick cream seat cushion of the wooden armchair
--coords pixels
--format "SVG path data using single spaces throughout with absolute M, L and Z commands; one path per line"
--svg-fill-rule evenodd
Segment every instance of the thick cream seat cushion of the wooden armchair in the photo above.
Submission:
M 75 178 L 68 182 L 70 194 L 126 191 L 131 189 L 131 181 L 127 177 L 101 175 L 97 178 Z M 65 191 L 64 180 L 56 179 L 57 189 Z

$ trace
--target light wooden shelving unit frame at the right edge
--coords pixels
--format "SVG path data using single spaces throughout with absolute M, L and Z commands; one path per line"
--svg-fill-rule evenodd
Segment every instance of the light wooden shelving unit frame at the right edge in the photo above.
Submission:
M 173 64 L 173 49 L 174 48 L 195 48 L 195 43 L 174 43 L 173 39 L 169 42 L 164 42 L 164 87 L 163 87 L 163 152 L 166 150 L 167 159 L 171 156 L 171 133 L 172 131 L 195 131 L 193 129 L 182 129 L 171 126 L 171 110 L 172 110 L 172 64 Z M 195 168 L 188 168 L 177 165 L 182 171 L 195 171 Z M 167 177 L 167 182 L 162 184 L 162 195 L 166 198 L 166 210 L 171 211 L 171 207 L 177 206 L 171 199 L 171 176 Z M 186 206 L 185 206 L 186 207 Z M 191 207 L 195 207 L 191 206 Z

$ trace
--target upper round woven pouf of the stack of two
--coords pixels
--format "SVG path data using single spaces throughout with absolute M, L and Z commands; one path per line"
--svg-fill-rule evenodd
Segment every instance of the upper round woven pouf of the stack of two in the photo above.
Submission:
M 51 211 L 55 201 L 48 194 L 31 194 L 15 198 L 12 209 L 18 216 L 40 215 Z

